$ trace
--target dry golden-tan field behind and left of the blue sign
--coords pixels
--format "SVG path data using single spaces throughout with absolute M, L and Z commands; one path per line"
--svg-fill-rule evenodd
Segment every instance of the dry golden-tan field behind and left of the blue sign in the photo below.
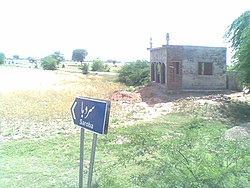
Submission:
M 60 76 L 65 78 L 46 87 L 2 92 L 0 135 L 40 135 L 52 130 L 58 133 L 55 128 L 70 132 L 70 107 L 76 96 L 109 99 L 111 93 L 123 87 L 97 75 L 62 73 Z M 112 105 L 112 108 L 117 107 Z

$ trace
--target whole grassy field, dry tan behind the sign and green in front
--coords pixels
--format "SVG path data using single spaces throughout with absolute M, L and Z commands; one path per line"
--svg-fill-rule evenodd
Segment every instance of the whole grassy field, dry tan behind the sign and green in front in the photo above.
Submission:
M 34 69 L 0 68 L 0 77 L 9 81 L 0 84 L 0 187 L 78 187 L 80 129 L 72 125 L 72 102 L 108 99 L 124 86 Z M 249 140 L 223 139 L 232 122 L 250 121 L 248 103 L 114 127 L 119 109 L 112 104 L 109 132 L 98 137 L 93 187 L 248 187 Z M 85 178 L 91 140 L 87 132 Z

